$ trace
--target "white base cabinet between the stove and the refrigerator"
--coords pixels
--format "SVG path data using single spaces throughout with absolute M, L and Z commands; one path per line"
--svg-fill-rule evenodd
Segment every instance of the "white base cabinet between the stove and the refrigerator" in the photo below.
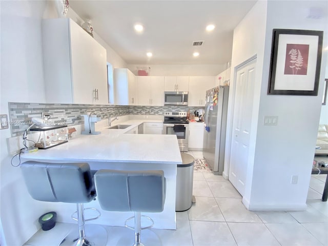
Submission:
M 189 122 L 188 149 L 202 150 L 204 137 L 204 124 L 201 122 Z

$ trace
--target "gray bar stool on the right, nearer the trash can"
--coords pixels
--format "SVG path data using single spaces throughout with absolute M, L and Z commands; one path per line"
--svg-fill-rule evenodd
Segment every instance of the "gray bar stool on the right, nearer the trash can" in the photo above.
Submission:
M 141 243 L 141 212 L 162 212 L 165 202 L 166 179 L 163 171 L 99 170 L 94 175 L 97 197 L 101 209 L 107 211 L 134 212 L 135 242 Z M 133 217 L 126 220 L 132 219 Z

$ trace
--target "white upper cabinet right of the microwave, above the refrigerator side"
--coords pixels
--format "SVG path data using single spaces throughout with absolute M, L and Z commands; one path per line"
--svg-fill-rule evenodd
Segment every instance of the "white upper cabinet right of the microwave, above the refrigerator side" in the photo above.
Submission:
M 188 106 L 205 106 L 206 91 L 214 87 L 215 76 L 190 76 Z

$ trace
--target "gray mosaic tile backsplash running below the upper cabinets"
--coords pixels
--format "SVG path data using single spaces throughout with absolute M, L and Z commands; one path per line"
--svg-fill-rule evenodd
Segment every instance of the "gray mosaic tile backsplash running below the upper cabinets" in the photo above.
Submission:
M 19 136 L 32 124 L 32 117 L 41 117 L 42 113 L 50 115 L 55 124 L 68 126 L 84 124 L 82 114 L 93 112 L 106 119 L 122 115 L 163 115 L 164 112 L 194 112 L 199 107 L 188 106 L 117 106 L 85 104 L 31 104 L 9 103 L 9 124 L 11 135 Z

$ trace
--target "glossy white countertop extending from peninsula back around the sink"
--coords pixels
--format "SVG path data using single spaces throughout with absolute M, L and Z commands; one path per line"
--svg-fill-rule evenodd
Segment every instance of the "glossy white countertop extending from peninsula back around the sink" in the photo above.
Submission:
M 126 129 L 101 129 L 99 135 L 80 135 L 67 143 L 22 154 L 29 160 L 64 160 L 97 162 L 137 163 L 182 163 L 178 141 L 175 135 L 125 134 L 142 122 L 162 120 L 131 119 L 119 125 L 131 125 Z M 114 123 L 114 122 L 113 122 Z M 117 124 L 112 124 L 115 126 Z

